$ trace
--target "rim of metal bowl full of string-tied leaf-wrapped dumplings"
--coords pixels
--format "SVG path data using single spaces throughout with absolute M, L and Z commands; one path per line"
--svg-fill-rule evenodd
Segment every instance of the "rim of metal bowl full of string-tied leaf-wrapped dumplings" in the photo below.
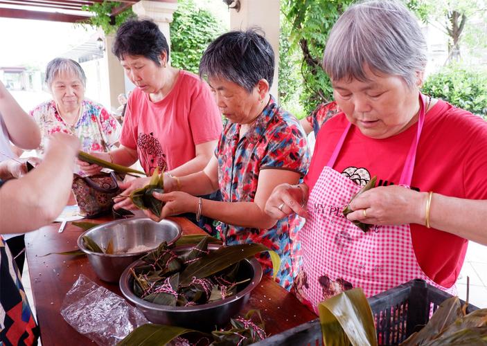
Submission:
M 188 246 L 178 246 L 176 249 L 182 249 Z M 219 248 L 220 245 L 215 245 L 215 244 L 209 244 L 209 248 L 212 250 L 215 250 L 216 248 Z M 130 302 L 133 302 L 134 304 L 144 308 L 144 309 L 150 309 L 154 310 L 157 312 L 196 312 L 196 311 L 204 311 L 204 310 L 209 310 L 213 309 L 215 307 L 221 307 L 222 305 L 227 305 L 230 304 L 231 302 L 235 302 L 236 300 L 242 299 L 245 295 L 250 293 L 258 284 L 260 283 L 260 280 L 262 280 L 262 266 L 260 266 L 260 263 L 256 258 L 251 258 L 250 260 L 248 258 L 245 259 L 249 264 L 251 265 L 252 269 L 254 270 L 254 280 L 251 280 L 247 286 L 245 286 L 245 289 L 242 289 L 242 291 L 238 292 L 236 295 L 232 295 L 229 298 L 225 298 L 222 300 L 217 300 L 216 302 L 211 302 L 211 303 L 206 303 L 206 304 L 199 304 L 199 305 L 192 305 L 191 307 L 170 307 L 168 305 L 161 305 L 161 304 L 154 304 L 151 302 L 148 302 L 146 300 L 143 300 L 139 297 L 137 297 L 129 287 L 129 279 L 130 279 L 130 269 L 134 268 L 135 266 L 139 266 L 140 264 L 143 264 L 143 260 L 136 260 L 134 263 L 130 264 L 130 266 L 127 266 L 125 268 L 125 271 L 123 271 L 122 275 L 120 276 L 120 291 L 122 292 L 123 296 L 125 299 L 130 300 Z

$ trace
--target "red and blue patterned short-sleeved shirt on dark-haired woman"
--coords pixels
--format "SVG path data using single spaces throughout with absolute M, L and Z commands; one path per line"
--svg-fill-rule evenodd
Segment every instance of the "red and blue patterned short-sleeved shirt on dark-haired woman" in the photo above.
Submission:
M 261 170 L 291 170 L 301 176 L 306 174 L 310 153 L 303 128 L 294 116 L 278 107 L 274 98 L 239 140 L 240 126 L 227 122 L 215 150 L 223 201 L 254 201 Z M 293 262 L 300 252 L 294 239 L 302 224 L 303 220 L 293 214 L 267 230 L 222 224 L 219 235 L 227 245 L 260 243 L 276 251 L 281 257 L 276 281 L 289 290 L 293 266 L 296 267 Z M 264 273 L 272 275 L 269 255 L 263 253 L 259 261 Z

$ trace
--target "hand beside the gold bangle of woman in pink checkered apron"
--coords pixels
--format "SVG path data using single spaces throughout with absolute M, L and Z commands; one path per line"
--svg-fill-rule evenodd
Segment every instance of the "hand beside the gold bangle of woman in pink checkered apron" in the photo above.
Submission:
M 351 221 L 371 225 L 425 224 L 427 193 L 398 185 L 379 186 L 351 203 Z

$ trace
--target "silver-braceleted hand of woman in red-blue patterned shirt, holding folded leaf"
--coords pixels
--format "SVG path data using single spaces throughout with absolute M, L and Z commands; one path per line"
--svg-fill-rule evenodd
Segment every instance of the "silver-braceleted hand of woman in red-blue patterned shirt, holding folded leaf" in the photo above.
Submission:
M 185 212 L 197 212 L 198 210 L 198 197 L 194 197 L 186 192 L 175 191 L 166 194 L 154 192 L 152 196 L 165 203 L 161 210 L 161 217 L 157 217 L 150 210 L 144 210 L 143 212 L 150 219 L 157 222 L 172 215 L 180 215 Z

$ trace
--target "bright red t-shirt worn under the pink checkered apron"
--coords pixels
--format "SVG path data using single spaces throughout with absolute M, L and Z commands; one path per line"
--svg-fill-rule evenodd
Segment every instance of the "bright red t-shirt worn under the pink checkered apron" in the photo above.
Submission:
M 339 113 L 319 131 L 305 183 L 312 189 L 333 153 L 348 120 Z M 398 184 L 417 123 L 384 139 L 364 136 L 353 126 L 337 162 L 337 172 L 359 183 L 377 176 L 377 185 Z M 462 199 L 487 199 L 487 122 L 444 101 L 427 112 L 418 143 L 411 188 Z M 418 224 L 411 239 L 420 267 L 434 282 L 452 286 L 460 273 L 468 241 Z

